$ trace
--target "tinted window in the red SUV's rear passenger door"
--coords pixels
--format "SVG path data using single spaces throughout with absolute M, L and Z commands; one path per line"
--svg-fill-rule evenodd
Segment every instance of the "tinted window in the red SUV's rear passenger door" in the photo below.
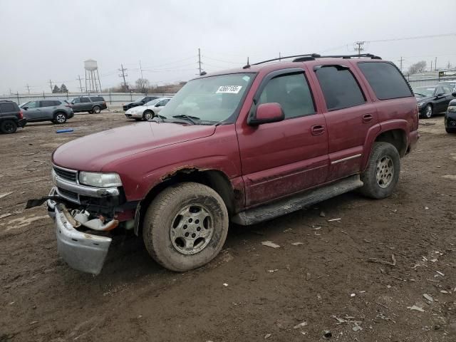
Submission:
M 363 92 L 348 68 L 322 66 L 316 70 L 328 110 L 338 110 L 366 102 Z

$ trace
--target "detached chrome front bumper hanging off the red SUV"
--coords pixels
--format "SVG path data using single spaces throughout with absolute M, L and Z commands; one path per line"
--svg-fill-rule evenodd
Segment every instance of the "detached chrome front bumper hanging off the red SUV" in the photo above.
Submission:
M 78 271 L 99 274 L 108 254 L 112 239 L 80 232 L 64 204 L 51 199 L 47 202 L 49 216 L 56 222 L 58 254 Z

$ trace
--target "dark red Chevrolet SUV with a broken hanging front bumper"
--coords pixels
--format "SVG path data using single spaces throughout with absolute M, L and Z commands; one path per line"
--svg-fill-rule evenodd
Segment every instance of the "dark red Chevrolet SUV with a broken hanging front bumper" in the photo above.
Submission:
M 133 229 L 158 263 L 187 271 L 217 256 L 230 221 L 355 189 L 388 197 L 419 136 L 403 75 L 370 54 L 291 57 L 195 78 L 160 117 L 58 147 L 41 201 L 63 259 L 98 274 L 111 230 Z

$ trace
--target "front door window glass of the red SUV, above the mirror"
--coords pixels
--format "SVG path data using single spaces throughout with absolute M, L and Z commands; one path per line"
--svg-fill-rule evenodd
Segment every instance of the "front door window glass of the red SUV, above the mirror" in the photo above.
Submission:
M 272 78 L 261 92 L 258 105 L 262 103 L 279 103 L 284 110 L 285 119 L 316 113 L 304 73 Z

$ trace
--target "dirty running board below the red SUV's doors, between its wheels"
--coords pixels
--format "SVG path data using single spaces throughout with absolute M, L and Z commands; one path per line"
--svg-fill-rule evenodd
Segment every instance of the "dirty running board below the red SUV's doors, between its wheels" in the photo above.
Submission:
M 242 226 L 249 226 L 250 224 L 256 224 L 259 222 L 268 221 L 290 212 L 296 212 L 296 210 L 307 207 L 311 204 L 315 204 L 325 199 L 342 195 L 345 192 L 362 187 L 359 175 L 344 178 L 338 182 L 318 187 L 314 190 L 301 192 L 298 195 L 293 195 L 284 199 L 279 199 L 276 202 L 261 205 L 253 209 L 248 209 L 245 212 L 239 212 L 232 217 L 232 222 L 241 224 Z

